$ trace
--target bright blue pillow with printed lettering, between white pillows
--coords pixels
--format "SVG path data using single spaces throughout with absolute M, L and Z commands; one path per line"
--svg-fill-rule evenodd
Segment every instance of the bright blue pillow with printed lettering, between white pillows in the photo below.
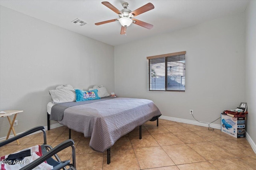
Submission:
M 75 89 L 76 92 L 76 102 L 82 102 L 85 100 L 95 100 L 100 99 L 98 96 L 98 90 L 89 90 L 89 91 L 83 91 L 79 89 Z

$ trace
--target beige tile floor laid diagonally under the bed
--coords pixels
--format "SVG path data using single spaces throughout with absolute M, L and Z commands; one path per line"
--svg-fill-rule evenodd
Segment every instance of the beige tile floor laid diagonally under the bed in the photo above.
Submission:
M 52 147 L 68 139 L 68 128 L 58 127 L 46 131 L 47 143 Z M 76 147 L 78 170 L 256 170 L 256 154 L 246 138 L 234 138 L 215 129 L 159 119 L 148 121 L 121 137 L 111 147 L 111 163 L 106 162 L 106 152 L 90 149 L 89 138 L 72 131 Z M 6 155 L 33 145 L 41 145 L 42 133 L 30 135 L 1 147 Z M 71 158 L 71 148 L 62 150 L 61 159 Z

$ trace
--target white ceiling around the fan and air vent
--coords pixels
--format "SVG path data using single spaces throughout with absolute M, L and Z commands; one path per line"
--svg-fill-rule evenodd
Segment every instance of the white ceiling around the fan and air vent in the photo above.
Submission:
M 248 0 L 108 0 L 118 10 L 128 2 L 131 11 L 151 2 L 155 8 L 135 18 L 154 25 L 146 29 L 136 24 L 127 27 L 127 35 L 120 35 L 117 22 L 95 25 L 94 23 L 118 18 L 118 15 L 101 4 L 104 0 L 0 0 L 0 5 L 39 20 L 85 35 L 92 39 L 116 46 L 172 32 L 205 21 L 244 12 Z M 79 26 L 72 20 L 80 18 L 87 24 Z

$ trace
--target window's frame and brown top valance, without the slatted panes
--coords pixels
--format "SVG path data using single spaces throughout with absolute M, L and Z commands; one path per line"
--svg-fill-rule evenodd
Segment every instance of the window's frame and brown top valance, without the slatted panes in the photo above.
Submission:
M 186 51 L 146 57 L 147 60 L 148 60 L 148 91 L 185 92 L 185 90 L 186 90 L 186 86 L 185 86 L 186 85 L 186 76 L 185 76 L 185 79 L 184 79 L 184 90 L 181 90 L 181 89 L 167 90 L 167 84 L 168 84 L 168 80 L 167 80 L 168 79 L 168 58 L 176 57 L 176 56 L 180 56 L 180 55 L 184 55 L 184 75 L 186 75 L 185 74 L 185 71 L 186 71 Z M 158 59 L 158 58 L 163 58 L 165 60 L 165 65 L 164 65 L 164 70 L 165 70 L 164 90 L 150 90 L 150 59 Z M 152 83 L 151 83 L 151 85 L 152 85 Z

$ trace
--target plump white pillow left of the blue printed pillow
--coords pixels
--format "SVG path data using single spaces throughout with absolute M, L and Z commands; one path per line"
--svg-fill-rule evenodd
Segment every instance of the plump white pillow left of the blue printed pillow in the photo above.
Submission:
M 49 92 L 52 96 L 52 104 L 76 101 L 76 93 L 72 88 L 49 90 Z

